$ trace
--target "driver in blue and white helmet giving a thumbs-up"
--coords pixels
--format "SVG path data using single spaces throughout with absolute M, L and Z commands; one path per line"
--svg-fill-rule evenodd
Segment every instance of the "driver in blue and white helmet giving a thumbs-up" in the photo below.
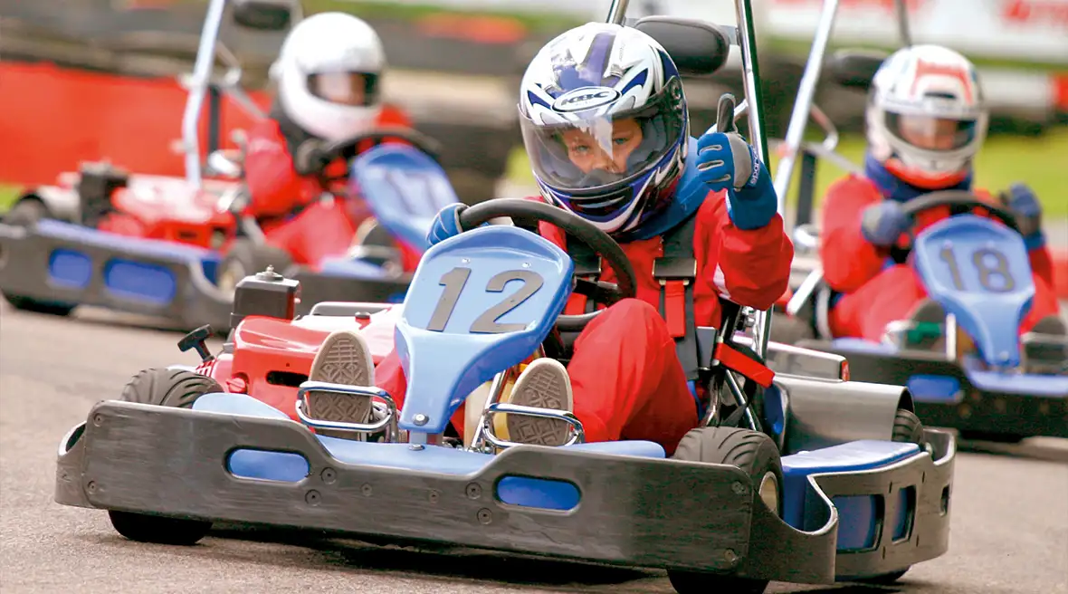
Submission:
M 681 80 L 651 37 L 633 28 L 588 24 L 561 34 L 533 59 L 522 79 L 523 143 L 544 200 L 594 223 L 623 248 L 637 276 L 637 299 L 604 309 L 578 335 L 565 369 L 533 360 L 513 388 L 513 404 L 574 410 L 586 441 L 647 439 L 671 453 L 698 423 L 698 406 L 675 349 L 677 331 L 658 307 L 654 260 L 664 235 L 692 219 L 697 325 L 719 326 L 719 297 L 768 309 L 786 290 L 794 246 L 783 231 L 767 168 L 737 134 L 690 137 Z M 465 205 L 442 209 L 429 233 L 460 233 Z M 565 245 L 563 232 L 539 232 Z M 615 276 L 604 266 L 602 281 Z M 572 295 L 565 313 L 582 313 Z M 578 308 L 578 311 L 576 311 Z M 334 347 L 334 345 L 337 345 Z M 356 348 L 354 348 L 356 345 Z M 336 351 L 331 356 L 330 349 Z M 336 362 L 346 358 L 349 370 Z M 396 353 L 370 369 L 363 340 L 328 338 L 313 364 L 335 377 L 366 378 L 403 398 Z M 321 374 L 320 374 L 321 375 Z M 377 377 L 375 377 L 377 376 Z M 373 378 L 373 379 L 372 379 Z M 464 412 L 453 418 L 462 434 Z M 559 419 L 509 416 L 513 441 L 561 446 Z M 503 437 L 503 436 L 502 436 Z

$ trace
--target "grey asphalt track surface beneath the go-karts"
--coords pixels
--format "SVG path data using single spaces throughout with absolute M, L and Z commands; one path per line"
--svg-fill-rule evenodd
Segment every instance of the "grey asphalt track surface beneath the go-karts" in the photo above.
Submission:
M 0 304 L 0 592 L 672 592 L 659 572 L 299 533 L 223 527 L 189 548 L 126 541 L 104 512 L 52 501 L 54 459 L 63 434 L 130 375 L 194 362 L 176 332 L 139 327 L 151 323 Z M 769 591 L 1068 593 L 1068 440 L 987 444 L 959 454 L 956 470 L 951 550 L 900 585 Z

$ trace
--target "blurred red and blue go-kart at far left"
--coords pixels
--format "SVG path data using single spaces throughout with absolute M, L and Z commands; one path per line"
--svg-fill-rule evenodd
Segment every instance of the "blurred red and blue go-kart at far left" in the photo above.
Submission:
M 216 150 L 223 91 L 254 119 L 264 116 L 237 84 L 241 72 L 236 59 L 217 40 L 227 3 L 245 27 L 285 28 L 289 22 L 281 18 L 288 0 L 209 4 L 202 33 L 202 42 L 209 43 L 202 43 L 198 52 L 183 122 L 186 178 L 130 175 L 91 163 L 61 175 L 59 186 L 26 192 L 0 221 L 0 292 L 14 307 L 66 315 L 79 304 L 101 306 L 166 317 L 186 329 L 207 323 L 225 331 L 234 283 L 268 265 L 304 281 L 302 313 L 335 295 L 403 298 L 409 275 L 402 255 L 414 252 L 408 257 L 414 260 L 425 240 L 409 233 L 410 217 L 394 216 L 399 224 L 376 225 L 374 215 L 376 209 L 396 210 L 387 203 L 412 191 L 437 201 L 407 205 L 417 220 L 425 219 L 424 208 L 457 201 L 440 167 L 427 158 L 436 159 L 436 143 L 393 127 L 324 147 L 320 153 L 345 159 L 358 145 L 396 140 L 421 153 L 397 150 L 364 161 L 365 184 L 324 194 L 284 222 L 261 228 L 244 209 L 240 158 Z M 222 82 L 208 78 L 217 47 L 230 67 Z M 198 123 L 205 95 L 211 100 L 208 158 L 202 167 Z M 384 174 L 383 163 L 396 167 L 396 174 Z M 411 189 L 419 184 L 427 188 Z M 362 205 L 362 226 L 351 215 L 354 200 L 375 203 Z

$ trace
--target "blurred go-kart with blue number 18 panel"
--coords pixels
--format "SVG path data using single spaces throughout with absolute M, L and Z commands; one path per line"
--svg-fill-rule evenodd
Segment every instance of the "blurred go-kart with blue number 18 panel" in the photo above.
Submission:
M 831 20 L 824 19 L 824 24 Z M 829 27 L 830 25 L 827 25 Z M 852 377 L 906 386 L 925 424 L 959 429 L 964 438 L 1018 441 L 1028 436 L 1068 437 L 1068 343 L 1063 337 L 1026 333 L 1021 318 L 1035 287 L 1027 250 L 1015 217 L 1001 204 L 960 191 L 932 192 L 906 205 L 911 216 L 948 208 L 951 218 L 913 233 L 910 248 L 895 249 L 897 264 L 910 263 L 928 296 L 945 312 L 943 324 L 894 323 L 882 343 L 838 338 L 828 312 L 834 293 L 818 259 L 819 230 L 813 219 L 817 159 L 860 168 L 834 153 L 836 134 L 812 104 L 824 64 L 827 34 L 818 36 L 799 92 L 775 186 L 785 201 L 791 168 L 800 159 L 795 212 L 792 294 L 776 316 L 772 335 L 804 348 L 846 357 Z M 832 81 L 866 90 L 885 56 L 839 50 L 826 61 Z M 804 142 L 808 114 L 828 131 L 821 144 Z M 989 213 L 990 218 L 973 212 Z M 926 342 L 944 348 L 915 348 Z

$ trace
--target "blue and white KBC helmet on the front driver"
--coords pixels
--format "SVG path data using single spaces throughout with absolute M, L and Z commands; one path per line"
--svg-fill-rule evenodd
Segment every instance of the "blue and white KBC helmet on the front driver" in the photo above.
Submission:
M 690 123 L 678 69 L 653 37 L 604 22 L 561 34 L 528 66 L 519 113 L 550 202 L 622 233 L 671 201 Z

